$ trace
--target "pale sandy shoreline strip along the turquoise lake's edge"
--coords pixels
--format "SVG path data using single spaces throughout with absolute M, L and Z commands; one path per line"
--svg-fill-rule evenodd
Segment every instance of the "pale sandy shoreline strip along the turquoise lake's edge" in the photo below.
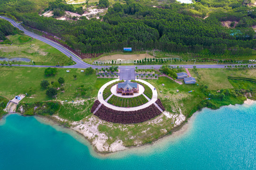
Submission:
M 243 104 L 252 105 L 255 102 L 256 101 L 247 99 L 246 101 L 244 101 Z M 243 104 L 239 104 L 239 105 L 243 105 Z M 227 106 L 230 106 L 230 105 L 227 105 Z M 221 106 L 221 107 L 223 107 L 223 106 Z M 76 123 L 79 123 L 81 120 L 77 121 L 77 122 L 75 122 L 75 121 L 72 122 L 72 125 L 77 125 L 75 127 L 65 127 L 61 124 L 61 122 L 63 122 L 64 119 L 62 119 L 58 116 L 52 116 L 52 117 L 47 117 L 47 116 L 42 116 L 42 115 L 34 115 L 34 116 L 35 116 L 35 119 L 37 119 L 40 123 L 47 124 L 47 125 L 53 127 L 56 130 L 61 130 L 64 133 L 68 133 L 69 135 L 74 137 L 76 140 L 78 140 L 80 143 L 87 145 L 91 155 L 96 156 L 96 157 L 98 157 L 98 156 L 106 157 L 106 156 L 111 156 L 113 154 L 115 155 L 115 153 L 119 153 L 119 152 L 122 152 L 122 151 L 123 152 L 127 152 L 127 151 L 130 151 L 130 150 L 132 151 L 133 149 L 138 148 L 138 147 L 140 147 L 140 148 L 149 147 L 153 144 L 158 144 L 159 142 L 168 140 L 168 137 L 170 137 L 170 136 L 172 136 L 173 138 L 178 138 L 178 137 L 184 136 L 187 133 L 189 133 L 189 131 L 192 129 L 190 127 L 192 127 L 195 116 L 199 112 L 200 112 L 200 110 L 197 110 L 190 118 L 183 120 L 179 125 L 177 125 L 176 127 L 173 127 L 165 135 L 163 135 L 159 138 L 156 138 L 156 139 L 152 140 L 149 143 L 138 144 L 136 146 L 124 146 L 123 145 L 124 147 L 121 148 L 121 149 L 118 148 L 118 147 L 113 147 L 114 150 L 111 150 L 110 152 L 106 152 L 106 151 L 101 152 L 101 151 L 97 150 L 97 147 L 94 145 L 93 140 L 89 139 L 87 136 L 85 136 L 84 133 L 80 132 L 79 129 L 75 128 L 75 127 L 78 126 Z M 20 116 L 23 116 L 21 113 L 15 112 L 15 113 L 8 113 L 8 114 L 4 115 L 2 118 L 4 119 L 6 116 L 8 116 L 10 114 L 18 114 Z M 164 113 L 162 115 L 164 115 Z M 2 121 L 3 119 L 0 119 L 0 120 Z M 2 125 L 2 123 L 1 123 L 1 125 Z M 57 127 L 60 127 L 60 129 L 57 128 Z M 77 137 L 75 134 L 78 135 L 79 137 Z M 86 140 L 84 140 L 84 139 L 86 139 Z M 120 143 L 116 143 L 116 142 L 114 142 L 113 144 L 117 144 L 117 146 L 120 145 Z

